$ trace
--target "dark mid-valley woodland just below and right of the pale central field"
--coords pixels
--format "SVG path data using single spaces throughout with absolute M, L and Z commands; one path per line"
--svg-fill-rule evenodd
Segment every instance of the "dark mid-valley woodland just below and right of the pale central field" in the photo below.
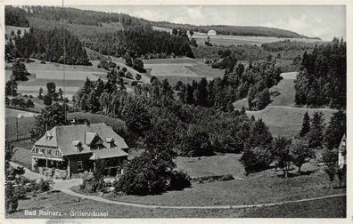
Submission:
M 226 68 L 223 78 L 215 78 L 207 82 L 202 78 L 198 83 L 176 84 L 178 97 L 185 104 L 217 108 L 223 111 L 233 111 L 236 100 L 248 98 L 251 110 L 266 108 L 271 102 L 269 88 L 281 80 L 281 70 L 275 66 L 275 60 L 250 63 L 245 68 L 242 63 L 236 65 L 232 53 L 226 54 L 222 68 Z

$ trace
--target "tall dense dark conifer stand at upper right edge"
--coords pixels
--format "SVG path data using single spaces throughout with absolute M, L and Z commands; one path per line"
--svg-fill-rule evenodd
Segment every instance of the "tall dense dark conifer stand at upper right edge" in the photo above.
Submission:
M 330 44 L 305 52 L 295 81 L 295 102 L 308 107 L 346 108 L 346 42 L 334 38 Z

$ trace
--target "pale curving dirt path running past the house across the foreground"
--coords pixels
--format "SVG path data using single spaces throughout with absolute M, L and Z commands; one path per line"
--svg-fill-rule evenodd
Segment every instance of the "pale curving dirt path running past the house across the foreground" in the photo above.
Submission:
M 21 166 L 19 164 L 15 164 L 10 162 L 12 167 L 17 167 Z M 24 176 L 33 179 L 33 180 L 38 180 L 40 178 L 44 178 L 43 175 L 40 175 L 37 172 L 32 172 L 29 169 L 25 168 L 25 174 Z M 107 204 L 119 204 L 119 205 L 126 205 L 126 206 L 133 206 L 137 208 L 150 208 L 150 209 L 242 209 L 242 208 L 254 208 L 254 207 L 262 207 L 262 206 L 273 206 L 273 205 L 281 205 L 281 204 L 294 204 L 294 203 L 300 203 L 300 202 L 309 202 L 309 201 L 316 201 L 316 200 L 321 200 L 325 198 L 332 198 L 332 197 L 338 197 L 338 196 L 346 196 L 346 194 L 340 194 L 340 195 L 332 195 L 332 196 L 319 196 L 319 197 L 313 197 L 313 198 L 305 198 L 305 199 L 300 199 L 300 200 L 292 200 L 292 201 L 284 201 L 280 203 L 268 203 L 268 204 L 229 204 L 229 205 L 210 205 L 210 206 L 171 206 L 171 205 L 152 205 L 152 204 L 137 204 L 137 203 L 127 203 L 127 202 L 119 202 L 119 201 L 112 201 L 109 199 L 105 199 L 100 196 L 86 196 L 79 194 L 77 192 L 72 191 L 70 188 L 78 186 L 82 183 L 81 179 L 71 179 L 71 180 L 53 180 L 54 190 L 60 190 L 63 193 L 70 195 L 70 196 L 77 196 L 79 198 L 83 199 L 89 199 L 93 200 L 96 202 L 102 202 L 102 203 L 107 203 Z

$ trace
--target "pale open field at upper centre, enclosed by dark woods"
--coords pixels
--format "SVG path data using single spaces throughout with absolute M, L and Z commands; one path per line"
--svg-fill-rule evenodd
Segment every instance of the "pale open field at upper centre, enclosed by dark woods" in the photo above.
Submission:
M 176 84 L 177 81 L 191 83 L 193 80 L 199 81 L 201 77 L 211 80 L 224 75 L 223 69 L 210 68 L 201 60 L 187 58 L 144 60 L 144 68 L 151 69 L 152 76 L 168 79 L 170 84 Z

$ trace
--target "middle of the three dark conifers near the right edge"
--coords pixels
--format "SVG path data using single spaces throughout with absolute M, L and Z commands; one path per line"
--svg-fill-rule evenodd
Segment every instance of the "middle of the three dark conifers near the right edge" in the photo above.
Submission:
M 324 114 L 315 112 L 311 119 L 308 132 L 308 144 L 310 148 L 321 148 L 324 141 Z

